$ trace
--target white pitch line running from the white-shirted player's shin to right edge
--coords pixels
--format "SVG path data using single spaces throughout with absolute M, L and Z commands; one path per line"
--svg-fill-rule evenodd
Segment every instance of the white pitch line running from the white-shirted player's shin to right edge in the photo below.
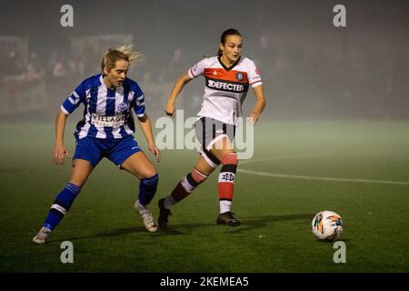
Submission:
M 330 182 L 355 182 L 355 183 L 373 183 L 373 184 L 389 184 L 389 185 L 405 185 L 409 186 L 409 182 L 401 181 L 386 181 L 386 180 L 372 180 L 372 179 L 347 179 L 347 178 L 334 178 L 334 177 L 324 177 L 324 176 L 298 176 L 298 175 L 285 175 L 285 174 L 275 174 L 266 173 L 258 171 L 250 171 L 245 169 L 237 169 L 237 172 L 257 175 L 257 176 L 272 176 L 276 178 L 290 178 L 290 179 L 303 179 L 303 180 L 317 180 L 317 181 L 330 181 Z

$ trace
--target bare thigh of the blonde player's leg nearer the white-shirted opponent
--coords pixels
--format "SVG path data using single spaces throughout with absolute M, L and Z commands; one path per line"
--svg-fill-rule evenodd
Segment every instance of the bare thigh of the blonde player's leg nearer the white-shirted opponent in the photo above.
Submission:
M 121 167 L 139 179 L 150 178 L 156 174 L 155 166 L 142 151 L 129 156 Z

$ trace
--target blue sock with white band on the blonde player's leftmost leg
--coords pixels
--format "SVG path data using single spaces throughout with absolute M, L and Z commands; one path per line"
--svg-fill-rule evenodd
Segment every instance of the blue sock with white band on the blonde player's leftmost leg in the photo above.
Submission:
M 54 204 L 51 206 L 48 216 L 45 218 L 44 226 L 50 229 L 54 229 L 61 219 L 65 216 L 66 212 L 73 205 L 75 197 L 80 193 L 81 188 L 68 183 L 65 185 L 63 191 L 56 196 Z

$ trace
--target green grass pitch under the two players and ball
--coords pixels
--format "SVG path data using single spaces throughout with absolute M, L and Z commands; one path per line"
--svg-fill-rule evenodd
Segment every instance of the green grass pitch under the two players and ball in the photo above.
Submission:
M 215 225 L 214 173 L 175 206 L 168 233 L 148 233 L 133 209 L 137 179 L 104 160 L 45 246 L 31 239 L 70 164 L 51 162 L 53 125 L 2 123 L 0 129 L 0 272 L 409 271 L 407 121 L 261 120 L 254 158 L 242 161 L 239 169 L 247 172 L 236 176 L 233 210 L 243 221 L 236 228 Z M 71 154 L 73 131 L 68 124 Z M 164 150 L 161 163 L 154 162 L 155 217 L 157 200 L 192 169 L 196 155 Z M 333 244 L 311 232 L 321 210 L 343 218 L 345 264 L 335 264 Z M 63 241 L 74 244 L 74 264 L 60 261 Z

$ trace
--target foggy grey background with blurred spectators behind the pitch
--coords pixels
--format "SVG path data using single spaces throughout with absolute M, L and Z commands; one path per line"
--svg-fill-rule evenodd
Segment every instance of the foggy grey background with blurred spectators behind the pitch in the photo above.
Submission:
M 65 4 L 74 27 L 60 25 Z M 333 25 L 337 4 L 346 27 Z M 129 77 L 148 114 L 163 115 L 175 80 L 215 55 L 231 27 L 262 75 L 263 118 L 409 117 L 407 1 L 0 1 L 0 16 L 1 121 L 54 122 L 75 86 L 100 73 L 105 51 L 124 44 L 144 54 Z M 200 77 L 186 85 L 185 117 L 199 111 L 204 86 Z M 245 112 L 253 105 L 249 89 Z

